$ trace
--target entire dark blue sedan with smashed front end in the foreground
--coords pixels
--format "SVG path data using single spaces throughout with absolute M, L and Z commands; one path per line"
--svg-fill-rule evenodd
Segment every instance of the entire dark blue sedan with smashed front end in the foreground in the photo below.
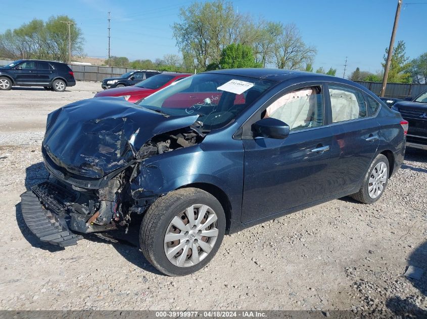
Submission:
M 176 95 L 188 101 L 173 105 Z M 105 97 L 50 113 L 50 177 L 22 194 L 22 214 L 60 246 L 80 233 L 125 233 L 140 214 L 147 260 L 191 274 L 224 234 L 348 195 L 376 202 L 403 162 L 406 130 L 398 112 L 341 78 L 202 73 L 136 105 Z

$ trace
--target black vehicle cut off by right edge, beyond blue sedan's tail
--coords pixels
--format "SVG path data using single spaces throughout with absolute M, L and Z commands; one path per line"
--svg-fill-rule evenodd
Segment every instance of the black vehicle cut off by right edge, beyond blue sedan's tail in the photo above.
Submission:
M 427 150 L 427 90 L 411 101 L 401 101 L 393 105 L 409 122 L 406 146 Z

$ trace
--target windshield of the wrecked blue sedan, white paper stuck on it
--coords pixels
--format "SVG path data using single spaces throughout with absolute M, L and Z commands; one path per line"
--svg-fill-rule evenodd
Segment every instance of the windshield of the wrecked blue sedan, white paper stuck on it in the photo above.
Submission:
M 152 94 L 138 105 L 169 115 L 199 114 L 201 129 L 210 131 L 234 120 L 274 84 L 267 80 L 201 73 Z

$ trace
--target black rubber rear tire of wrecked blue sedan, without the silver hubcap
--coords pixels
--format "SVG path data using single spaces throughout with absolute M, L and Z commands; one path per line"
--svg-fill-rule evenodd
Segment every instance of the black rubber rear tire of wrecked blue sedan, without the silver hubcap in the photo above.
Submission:
M 384 183 L 382 183 L 383 189 L 381 190 L 381 192 L 375 198 L 372 198 L 369 195 L 369 187 L 373 186 L 373 183 L 370 183 L 369 179 L 371 177 L 374 178 L 373 174 L 376 173 L 376 171 L 377 171 L 376 167 L 380 163 L 384 163 L 386 165 L 386 167 L 387 167 L 387 172 L 384 174 L 385 178 L 386 178 L 386 181 Z M 359 192 L 357 192 L 356 194 L 351 195 L 351 197 L 353 199 L 355 199 L 356 201 L 360 202 L 360 203 L 364 203 L 364 204 L 375 203 L 377 200 L 379 200 L 379 198 L 381 198 L 381 196 L 383 196 L 384 190 L 386 189 L 387 184 L 389 183 L 389 175 L 390 175 L 390 164 L 389 164 L 389 160 L 383 154 L 378 154 L 373 159 L 373 161 L 371 162 L 371 164 L 369 165 L 369 168 L 368 168 L 368 170 L 367 170 L 367 172 L 365 174 L 365 178 L 364 178 L 362 187 L 360 187 Z

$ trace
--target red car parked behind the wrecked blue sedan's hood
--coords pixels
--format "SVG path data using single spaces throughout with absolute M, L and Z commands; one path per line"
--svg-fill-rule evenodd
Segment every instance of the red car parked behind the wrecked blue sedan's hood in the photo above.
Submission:
M 122 88 L 98 92 L 94 97 L 123 96 L 126 101 L 134 103 L 191 75 L 192 74 L 189 73 L 162 73 L 152 76 L 151 78 L 141 81 L 133 86 L 125 86 Z

